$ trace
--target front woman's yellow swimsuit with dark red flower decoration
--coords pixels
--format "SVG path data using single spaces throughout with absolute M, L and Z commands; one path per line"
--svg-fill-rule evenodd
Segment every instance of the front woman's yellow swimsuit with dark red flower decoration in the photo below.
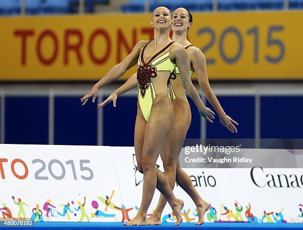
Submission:
M 168 49 L 168 47 L 170 47 L 174 42 L 171 42 L 159 52 L 157 52 L 155 55 L 153 55 L 148 62 L 144 61 L 144 50 L 146 46 L 148 46 L 151 42 L 152 41 L 149 41 L 141 48 L 137 68 L 138 100 L 141 111 L 146 121 L 149 120 L 152 109 L 152 102 L 155 97 L 160 93 L 165 93 L 166 95 L 168 95 L 167 87 L 165 84 L 166 80 L 164 81 L 164 85 L 162 83 L 162 80 L 156 80 L 157 72 L 169 71 L 171 74 L 176 68 L 176 64 L 170 61 L 170 49 Z M 164 52 L 165 50 L 166 52 Z M 161 53 L 163 54 L 160 55 Z M 166 79 L 168 78 L 169 75 Z

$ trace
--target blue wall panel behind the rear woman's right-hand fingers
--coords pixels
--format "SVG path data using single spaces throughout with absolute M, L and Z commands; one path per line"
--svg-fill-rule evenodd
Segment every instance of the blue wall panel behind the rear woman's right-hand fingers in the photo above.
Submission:
M 254 96 L 218 96 L 225 113 L 229 115 L 239 126 L 238 133 L 232 134 L 220 123 L 218 114 L 207 101 L 207 107 L 216 113 L 214 122 L 207 121 L 207 138 L 254 138 Z

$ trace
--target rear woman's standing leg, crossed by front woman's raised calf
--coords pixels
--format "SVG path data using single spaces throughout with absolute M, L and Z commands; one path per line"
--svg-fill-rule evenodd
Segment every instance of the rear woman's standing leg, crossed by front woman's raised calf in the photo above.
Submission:
M 161 158 L 165 171 L 165 177 L 168 184 L 173 189 L 176 182 L 176 168 L 178 163 L 179 153 L 183 146 L 186 133 L 191 124 L 191 108 L 187 99 L 184 97 L 177 97 L 173 101 L 174 121 L 173 125 L 166 137 L 164 147 L 161 151 Z M 164 151 L 164 152 L 163 152 Z M 167 200 L 161 194 L 158 205 L 152 216 L 148 218 L 150 225 L 161 224 L 161 214 L 166 205 Z

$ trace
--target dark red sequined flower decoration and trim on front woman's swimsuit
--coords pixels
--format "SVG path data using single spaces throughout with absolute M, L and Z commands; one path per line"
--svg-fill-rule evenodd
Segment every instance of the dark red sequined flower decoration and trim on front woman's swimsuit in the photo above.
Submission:
M 150 41 L 152 42 L 152 41 Z M 146 90 L 149 88 L 149 84 L 152 82 L 151 78 L 155 78 L 157 76 L 157 69 L 150 64 L 152 60 L 158 56 L 161 52 L 163 52 L 165 49 L 167 49 L 171 44 L 174 42 L 171 42 L 164 48 L 162 48 L 159 52 L 157 52 L 147 63 L 145 63 L 144 58 L 143 58 L 143 53 L 147 45 L 149 45 L 148 42 L 142 50 L 141 53 L 141 65 L 139 65 L 138 70 L 137 70 L 137 81 L 139 85 L 139 89 L 141 92 L 142 97 L 145 96 Z

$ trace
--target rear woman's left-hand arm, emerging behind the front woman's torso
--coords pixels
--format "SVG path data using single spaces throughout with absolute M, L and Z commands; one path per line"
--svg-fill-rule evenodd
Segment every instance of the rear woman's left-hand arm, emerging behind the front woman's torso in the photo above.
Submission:
M 133 74 L 120 88 L 111 93 L 106 100 L 104 100 L 101 104 L 98 104 L 98 108 L 104 107 L 109 102 L 113 102 L 113 106 L 116 107 L 117 97 L 124 92 L 130 91 L 134 87 L 137 86 L 137 73 Z

